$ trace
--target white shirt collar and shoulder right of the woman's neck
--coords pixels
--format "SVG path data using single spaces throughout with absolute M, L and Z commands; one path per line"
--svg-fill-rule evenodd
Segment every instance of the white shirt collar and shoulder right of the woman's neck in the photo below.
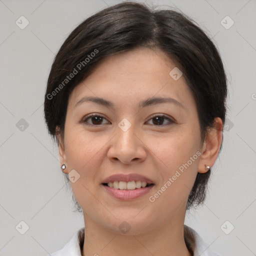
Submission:
M 221 256 L 215 251 L 209 250 L 209 245 L 207 245 L 200 235 L 191 227 L 184 225 L 184 229 L 186 230 L 186 233 L 190 233 L 192 235 L 192 241 L 191 244 L 189 244 L 193 248 L 193 256 Z

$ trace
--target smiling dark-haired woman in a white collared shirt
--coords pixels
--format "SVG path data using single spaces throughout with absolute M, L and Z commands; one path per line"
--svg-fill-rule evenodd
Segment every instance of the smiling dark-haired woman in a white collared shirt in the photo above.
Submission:
M 205 33 L 123 2 L 60 47 L 44 101 L 84 228 L 51 255 L 218 255 L 184 225 L 222 144 L 226 77 Z

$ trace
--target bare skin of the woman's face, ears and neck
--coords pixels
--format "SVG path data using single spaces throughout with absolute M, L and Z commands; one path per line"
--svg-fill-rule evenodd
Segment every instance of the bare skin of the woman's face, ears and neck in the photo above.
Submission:
M 174 80 L 175 64 L 159 49 L 137 48 L 106 57 L 72 91 L 68 99 L 64 138 L 58 137 L 64 173 L 75 169 L 80 177 L 70 182 L 83 210 L 85 238 L 82 255 L 190 255 L 183 238 L 185 207 L 197 172 L 212 166 L 222 141 L 222 122 L 215 119 L 200 143 L 195 101 L 183 76 Z M 86 101 L 102 97 L 114 106 Z M 174 103 L 139 107 L 153 96 L 172 97 Z M 103 115 L 97 124 L 90 113 Z M 166 115 L 160 125 L 155 116 Z M 126 118 L 127 131 L 118 123 Z M 92 126 L 88 126 L 91 124 Z M 93 126 L 94 125 L 94 126 Z M 157 198 L 153 195 L 196 151 L 201 155 Z M 109 195 L 101 183 L 116 173 L 139 173 L 154 182 L 150 192 L 130 201 Z M 118 226 L 126 221 L 130 230 Z

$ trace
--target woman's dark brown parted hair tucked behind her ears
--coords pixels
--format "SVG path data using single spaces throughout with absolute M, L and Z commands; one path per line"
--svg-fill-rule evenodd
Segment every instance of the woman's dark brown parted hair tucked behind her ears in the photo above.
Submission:
M 201 143 L 207 128 L 213 127 L 215 117 L 220 117 L 224 125 L 226 76 L 218 50 L 209 37 L 181 12 L 153 10 L 145 4 L 122 2 L 85 19 L 69 34 L 56 54 L 44 100 L 45 121 L 53 139 L 58 135 L 63 138 L 72 89 L 105 56 L 140 46 L 159 48 L 183 72 L 196 102 Z M 72 78 L 69 77 L 71 73 L 74 74 Z M 197 173 L 187 209 L 204 201 L 209 175 L 210 169 Z M 73 199 L 76 202 L 74 196 Z M 77 202 L 76 206 L 79 210 Z

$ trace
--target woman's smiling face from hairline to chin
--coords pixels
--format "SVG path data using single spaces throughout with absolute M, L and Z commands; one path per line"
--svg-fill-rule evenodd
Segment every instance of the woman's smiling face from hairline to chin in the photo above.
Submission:
M 134 234 L 183 221 L 202 147 L 174 67 L 162 51 L 137 48 L 105 58 L 70 94 L 59 155 L 85 221 L 115 232 L 126 221 Z

